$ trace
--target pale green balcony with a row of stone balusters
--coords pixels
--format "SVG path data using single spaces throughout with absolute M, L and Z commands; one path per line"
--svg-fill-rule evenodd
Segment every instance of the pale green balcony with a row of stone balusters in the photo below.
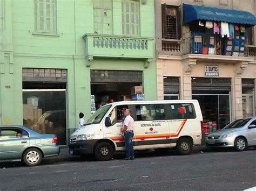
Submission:
M 153 38 L 85 34 L 86 56 L 93 58 L 153 58 Z

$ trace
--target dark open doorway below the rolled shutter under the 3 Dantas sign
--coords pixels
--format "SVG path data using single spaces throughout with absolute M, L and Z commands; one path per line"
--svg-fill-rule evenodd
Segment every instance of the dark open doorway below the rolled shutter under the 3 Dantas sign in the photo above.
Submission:
M 231 119 L 229 94 L 199 94 L 192 95 L 193 100 L 198 100 L 204 123 L 211 125 L 209 131 L 223 129 Z

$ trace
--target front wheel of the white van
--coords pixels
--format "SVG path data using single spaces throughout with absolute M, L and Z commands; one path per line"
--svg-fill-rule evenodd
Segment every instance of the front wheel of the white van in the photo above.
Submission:
M 109 143 L 101 142 L 95 146 L 94 155 L 99 161 L 111 160 L 113 153 L 113 147 Z

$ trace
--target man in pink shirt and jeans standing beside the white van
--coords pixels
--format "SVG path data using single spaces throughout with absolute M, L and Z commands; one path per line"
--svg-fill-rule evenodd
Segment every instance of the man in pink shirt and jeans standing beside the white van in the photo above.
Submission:
M 126 109 L 124 111 L 125 119 L 123 123 L 122 133 L 124 133 L 124 143 L 125 143 L 125 153 L 126 157 L 124 160 L 133 160 L 134 159 L 134 150 L 132 139 L 134 136 L 133 133 L 133 123 L 134 120 L 131 117 L 131 110 Z

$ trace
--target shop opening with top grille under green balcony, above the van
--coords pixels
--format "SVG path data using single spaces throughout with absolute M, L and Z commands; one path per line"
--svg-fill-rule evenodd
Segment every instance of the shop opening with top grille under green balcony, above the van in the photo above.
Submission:
M 144 98 L 142 74 L 142 71 L 91 70 L 91 95 L 95 98 L 93 107 L 97 110 L 110 102 L 133 100 L 134 94 Z

